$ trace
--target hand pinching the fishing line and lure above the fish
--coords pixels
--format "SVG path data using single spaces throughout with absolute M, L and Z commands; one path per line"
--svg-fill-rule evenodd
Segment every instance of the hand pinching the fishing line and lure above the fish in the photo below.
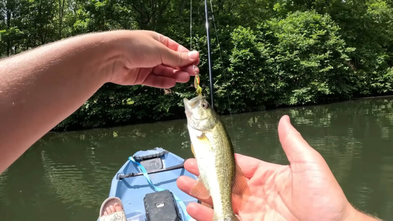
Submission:
M 121 55 L 115 59 L 109 82 L 144 84 L 159 88 L 185 83 L 199 72 L 199 53 L 190 52 L 172 39 L 154 31 L 117 31 L 115 44 Z

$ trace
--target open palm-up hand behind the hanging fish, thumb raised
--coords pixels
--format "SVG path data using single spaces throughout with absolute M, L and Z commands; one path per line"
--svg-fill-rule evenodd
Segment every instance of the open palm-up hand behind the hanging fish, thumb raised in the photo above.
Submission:
M 235 154 L 250 190 L 247 201 L 232 200 L 233 211 L 242 221 L 374 220 L 351 206 L 325 160 L 290 124 L 288 116 L 280 120 L 279 137 L 290 165 Z M 195 159 L 187 160 L 184 167 L 199 174 Z M 186 176 L 177 180 L 185 193 L 190 193 L 195 183 Z M 201 201 L 212 205 L 211 198 Z M 213 209 L 198 203 L 190 203 L 187 212 L 197 221 L 213 220 Z

